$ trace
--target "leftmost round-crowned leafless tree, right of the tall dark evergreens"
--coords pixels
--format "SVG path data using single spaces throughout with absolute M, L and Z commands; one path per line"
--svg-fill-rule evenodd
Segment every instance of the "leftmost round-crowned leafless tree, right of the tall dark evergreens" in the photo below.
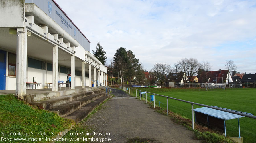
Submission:
M 172 71 L 173 70 L 171 65 L 166 63 L 156 63 L 151 69 L 151 72 L 154 73 L 155 77 L 157 78 L 161 85 L 164 84 L 166 76 Z

